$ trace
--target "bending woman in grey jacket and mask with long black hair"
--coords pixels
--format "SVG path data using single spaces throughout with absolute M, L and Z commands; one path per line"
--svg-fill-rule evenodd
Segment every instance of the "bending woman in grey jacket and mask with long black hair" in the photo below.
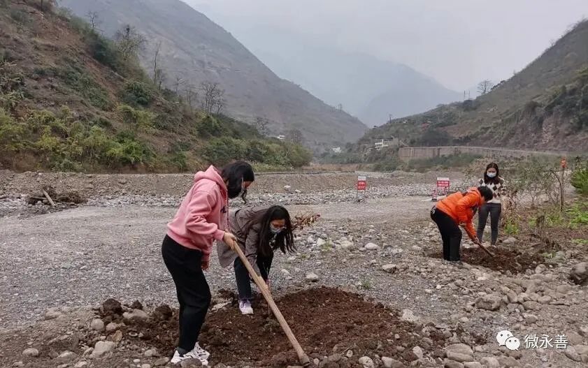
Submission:
M 273 251 L 276 249 L 280 249 L 282 253 L 296 251 L 290 214 L 282 206 L 250 207 L 231 211 L 229 226 L 245 257 L 266 284 L 268 284 Z M 234 265 L 241 313 L 252 314 L 252 292 L 247 268 L 227 244 L 220 242 L 217 252 L 222 267 L 228 267 L 231 263 Z

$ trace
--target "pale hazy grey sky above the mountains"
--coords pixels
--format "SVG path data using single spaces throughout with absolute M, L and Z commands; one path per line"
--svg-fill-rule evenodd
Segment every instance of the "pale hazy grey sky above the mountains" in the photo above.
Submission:
M 457 91 L 510 78 L 588 15 L 588 0 L 184 1 L 238 39 L 286 31 L 407 64 Z

